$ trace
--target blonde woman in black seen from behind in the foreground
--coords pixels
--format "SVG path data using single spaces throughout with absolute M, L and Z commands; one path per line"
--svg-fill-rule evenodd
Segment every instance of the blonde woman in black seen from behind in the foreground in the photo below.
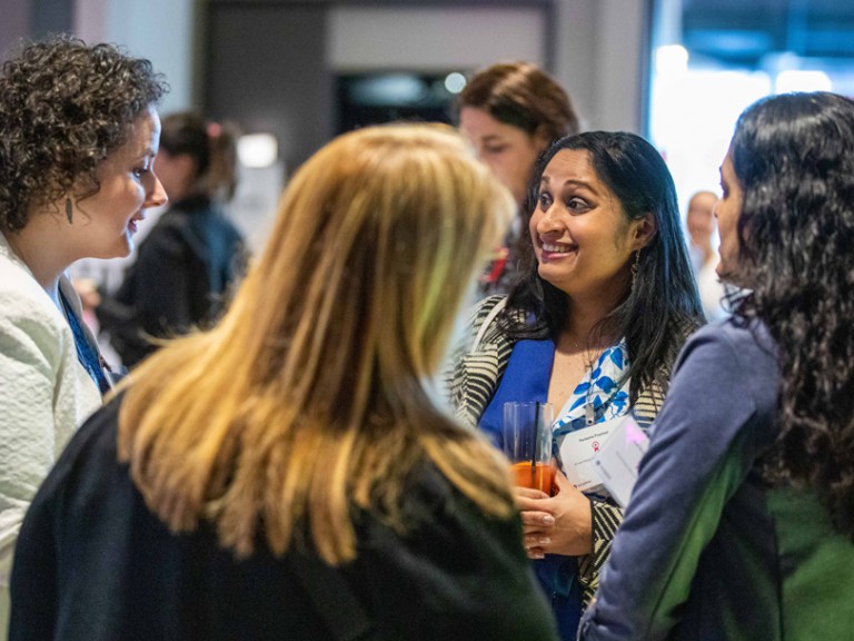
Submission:
M 514 215 L 449 127 L 318 151 L 222 322 L 141 363 L 42 485 L 16 641 L 555 640 L 505 462 L 431 383 Z

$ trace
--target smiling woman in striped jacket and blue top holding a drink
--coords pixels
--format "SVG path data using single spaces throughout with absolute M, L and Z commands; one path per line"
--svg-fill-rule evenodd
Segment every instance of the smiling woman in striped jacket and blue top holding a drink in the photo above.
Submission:
M 506 402 L 549 402 L 563 470 L 586 456 L 580 431 L 632 414 L 655 418 L 671 366 L 703 323 L 675 188 L 639 136 L 593 131 L 554 144 L 526 207 L 524 279 L 480 303 L 450 381 L 468 424 L 500 441 Z M 519 490 L 525 543 L 552 596 L 564 639 L 598 582 L 620 519 L 599 492 L 557 475 L 549 497 Z M 589 489 L 594 489 L 593 485 Z

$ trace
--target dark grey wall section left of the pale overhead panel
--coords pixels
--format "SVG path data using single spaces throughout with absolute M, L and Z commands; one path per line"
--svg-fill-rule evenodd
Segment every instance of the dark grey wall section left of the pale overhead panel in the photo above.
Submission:
M 326 11 L 318 2 L 207 7 L 205 110 L 215 118 L 239 114 L 247 131 L 275 134 L 287 168 L 332 135 Z

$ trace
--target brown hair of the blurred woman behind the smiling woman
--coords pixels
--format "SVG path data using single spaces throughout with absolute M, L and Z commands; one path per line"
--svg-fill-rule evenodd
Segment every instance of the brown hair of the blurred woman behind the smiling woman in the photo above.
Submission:
M 483 109 L 499 122 L 556 140 L 578 131 L 566 91 L 530 62 L 502 62 L 476 73 L 459 95 L 458 108 Z

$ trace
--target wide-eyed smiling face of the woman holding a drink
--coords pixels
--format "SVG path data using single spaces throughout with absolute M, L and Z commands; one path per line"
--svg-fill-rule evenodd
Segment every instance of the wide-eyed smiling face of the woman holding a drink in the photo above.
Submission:
M 558 151 L 543 171 L 530 217 L 539 275 L 570 297 L 619 298 L 643 245 L 637 240 L 642 224 L 628 220 L 586 150 Z

